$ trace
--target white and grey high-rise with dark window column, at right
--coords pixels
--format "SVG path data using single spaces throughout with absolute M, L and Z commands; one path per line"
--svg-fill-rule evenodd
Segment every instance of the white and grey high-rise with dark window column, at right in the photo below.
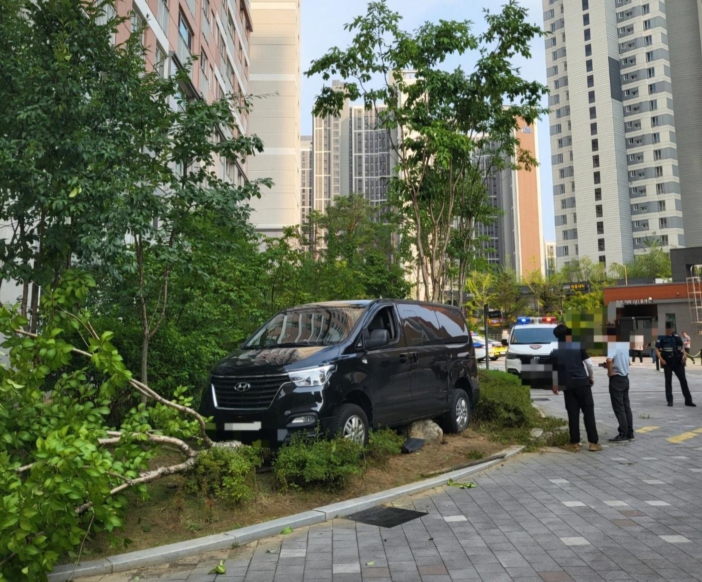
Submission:
M 543 0 L 559 266 L 684 245 L 665 7 Z

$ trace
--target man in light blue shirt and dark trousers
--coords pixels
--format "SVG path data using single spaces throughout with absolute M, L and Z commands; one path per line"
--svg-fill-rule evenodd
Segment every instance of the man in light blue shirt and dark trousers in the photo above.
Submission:
M 629 343 L 617 341 L 614 328 L 607 329 L 607 361 L 609 398 L 619 422 L 619 434 L 609 442 L 629 442 L 634 439 L 633 415 L 629 403 Z

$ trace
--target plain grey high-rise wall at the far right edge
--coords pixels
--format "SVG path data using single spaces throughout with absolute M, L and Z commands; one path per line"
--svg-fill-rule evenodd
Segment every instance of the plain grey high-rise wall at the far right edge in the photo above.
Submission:
M 665 4 L 685 245 L 702 246 L 702 0 Z

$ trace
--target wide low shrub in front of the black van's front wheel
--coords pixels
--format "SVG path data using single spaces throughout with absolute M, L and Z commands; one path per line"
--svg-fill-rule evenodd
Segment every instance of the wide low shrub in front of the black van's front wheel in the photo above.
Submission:
M 276 477 L 284 487 L 340 489 L 349 477 L 363 468 L 363 447 L 350 439 L 325 439 L 317 435 L 293 435 L 278 449 L 273 462 Z

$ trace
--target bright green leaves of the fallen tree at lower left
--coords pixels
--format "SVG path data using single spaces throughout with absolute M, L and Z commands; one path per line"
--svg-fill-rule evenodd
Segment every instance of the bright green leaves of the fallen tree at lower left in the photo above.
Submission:
M 94 286 L 91 277 L 69 272 L 61 287 L 44 293 L 36 337 L 15 333 L 27 319 L 0 309 L 9 358 L 0 367 L 0 579 L 45 579 L 89 531 L 120 527 L 125 499 L 110 491 L 147 470 L 152 456 L 147 432 L 154 427 L 143 406 L 125 419 L 112 448 L 100 445 L 112 397 L 131 373 L 110 331 L 90 338 L 85 367 L 73 362 L 67 330 L 88 329 L 77 304 Z

